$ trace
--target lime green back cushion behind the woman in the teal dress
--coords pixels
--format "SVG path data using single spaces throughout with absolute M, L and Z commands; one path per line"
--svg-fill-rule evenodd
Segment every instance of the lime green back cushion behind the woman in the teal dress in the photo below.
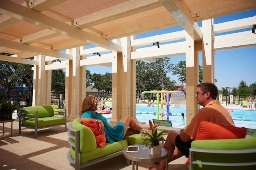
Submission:
M 97 143 L 94 133 L 91 129 L 80 123 L 80 117 L 72 121 L 72 127 L 80 131 L 80 152 L 88 152 L 96 149 Z

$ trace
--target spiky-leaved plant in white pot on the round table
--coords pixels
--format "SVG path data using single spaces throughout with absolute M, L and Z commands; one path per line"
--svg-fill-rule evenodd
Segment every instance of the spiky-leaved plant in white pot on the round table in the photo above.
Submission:
M 146 143 L 146 146 L 150 145 L 150 154 L 152 156 L 158 156 L 162 153 L 161 145 L 159 143 L 161 141 L 166 141 L 164 139 L 164 133 L 167 131 L 159 131 L 156 128 L 153 128 L 153 123 L 149 120 L 149 126 L 151 128 L 151 133 L 145 133 L 147 137 L 143 140 L 143 143 Z

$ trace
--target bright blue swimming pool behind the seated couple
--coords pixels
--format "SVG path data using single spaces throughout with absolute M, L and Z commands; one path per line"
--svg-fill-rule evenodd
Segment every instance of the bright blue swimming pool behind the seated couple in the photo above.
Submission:
M 148 125 L 148 121 L 152 119 L 158 119 L 157 115 L 154 115 L 156 112 L 156 106 L 147 107 L 147 106 L 136 106 L 136 118 L 139 122 L 145 122 Z M 256 110 L 228 110 L 233 117 L 236 127 L 246 127 L 251 129 L 256 129 Z M 163 108 L 164 120 L 167 120 L 168 115 L 166 115 L 166 107 Z M 179 126 L 181 123 L 181 112 L 184 113 L 186 120 L 186 108 L 185 107 L 169 107 L 169 113 L 172 113 L 169 116 L 168 120 L 172 121 L 172 127 L 183 128 L 185 125 Z M 161 107 L 159 108 L 159 113 L 161 113 Z M 159 119 L 161 117 L 159 116 Z M 185 121 L 186 122 L 186 121 Z

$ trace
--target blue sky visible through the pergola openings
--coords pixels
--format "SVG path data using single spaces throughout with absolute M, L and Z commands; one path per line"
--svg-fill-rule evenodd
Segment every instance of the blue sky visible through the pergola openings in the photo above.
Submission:
M 252 17 L 254 15 L 256 15 L 256 10 L 250 10 L 230 16 L 215 18 L 214 23 L 238 20 L 242 18 Z M 201 26 L 201 22 L 198 22 L 198 25 Z M 251 29 L 252 28 L 245 30 Z M 136 35 L 136 38 L 139 39 L 180 30 L 182 30 L 180 26 L 172 27 L 168 29 L 139 34 Z M 173 64 L 178 64 L 180 61 L 185 61 L 185 56 L 171 57 L 170 61 Z M 199 64 L 202 66 L 202 55 L 199 55 Z M 237 88 L 241 80 L 245 81 L 247 86 L 250 86 L 250 84 L 252 83 L 256 83 L 256 73 L 254 69 L 256 67 L 256 47 L 216 51 L 214 64 L 215 78 L 217 80 L 216 86 L 218 87 L 218 89 L 221 89 L 222 87 Z M 91 74 L 105 74 L 106 72 L 112 72 L 111 67 L 106 68 L 100 66 L 88 66 L 87 70 L 90 70 Z M 172 75 L 172 73 L 167 74 L 167 76 L 169 76 L 171 80 L 176 80 L 177 83 L 180 83 L 178 81 L 178 78 Z

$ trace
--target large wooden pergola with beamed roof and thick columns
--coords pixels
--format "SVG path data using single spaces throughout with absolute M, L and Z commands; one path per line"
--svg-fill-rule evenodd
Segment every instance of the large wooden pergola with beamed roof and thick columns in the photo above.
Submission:
M 252 28 L 256 16 L 218 24 L 212 18 L 253 9 L 256 0 L 1 0 L 0 51 L 13 55 L 0 55 L 0 60 L 31 65 L 33 106 L 50 104 L 51 72 L 65 69 L 65 108 L 71 119 L 78 117 L 86 94 L 86 66 L 111 66 L 111 122 L 116 123 L 125 115 L 136 118 L 136 61 L 186 55 L 189 123 L 198 109 L 198 53 L 203 82 L 214 82 L 214 51 L 256 45 L 252 31 L 215 36 Z M 184 30 L 134 36 L 177 25 Z M 166 42 L 160 48 L 152 45 Z M 96 47 L 85 49 L 90 44 Z M 146 47 L 137 48 L 141 46 Z M 63 50 L 66 53 L 59 52 Z M 91 56 L 94 53 L 105 54 Z M 57 59 L 62 62 L 52 63 Z

